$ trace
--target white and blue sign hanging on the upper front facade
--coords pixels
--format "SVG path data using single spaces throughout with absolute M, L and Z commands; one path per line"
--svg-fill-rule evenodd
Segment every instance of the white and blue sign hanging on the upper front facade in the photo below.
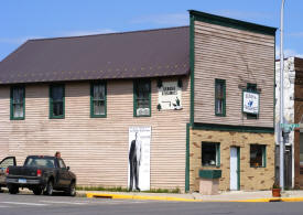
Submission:
M 258 93 L 244 92 L 242 111 L 251 115 L 259 115 L 259 99 Z

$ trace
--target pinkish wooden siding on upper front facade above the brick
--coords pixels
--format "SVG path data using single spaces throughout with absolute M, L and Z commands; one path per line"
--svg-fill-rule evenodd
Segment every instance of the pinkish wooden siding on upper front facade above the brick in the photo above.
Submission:
M 273 127 L 274 36 L 195 21 L 195 122 Z M 226 79 L 226 117 L 215 116 L 215 78 Z M 259 119 L 241 112 L 246 83 L 260 93 Z

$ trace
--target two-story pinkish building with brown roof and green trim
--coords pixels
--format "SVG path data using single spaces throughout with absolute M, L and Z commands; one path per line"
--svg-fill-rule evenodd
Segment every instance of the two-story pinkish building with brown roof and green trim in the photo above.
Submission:
M 190 17 L 21 45 L 0 63 L 0 157 L 61 151 L 78 185 L 127 187 L 138 168 L 141 190 L 196 191 L 204 170 L 220 190 L 270 189 L 275 29 Z

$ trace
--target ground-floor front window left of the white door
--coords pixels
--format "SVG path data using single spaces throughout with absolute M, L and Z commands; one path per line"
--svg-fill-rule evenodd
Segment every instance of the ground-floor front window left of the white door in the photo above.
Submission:
M 220 165 L 220 143 L 202 142 L 202 165 Z

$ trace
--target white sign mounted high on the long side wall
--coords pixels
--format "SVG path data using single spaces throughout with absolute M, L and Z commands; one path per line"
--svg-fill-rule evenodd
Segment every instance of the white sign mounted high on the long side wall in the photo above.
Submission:
M 182 109 L 182 88 L 177 82 L 163 82 L 159 88 L 159 105 L 163 110 Z

